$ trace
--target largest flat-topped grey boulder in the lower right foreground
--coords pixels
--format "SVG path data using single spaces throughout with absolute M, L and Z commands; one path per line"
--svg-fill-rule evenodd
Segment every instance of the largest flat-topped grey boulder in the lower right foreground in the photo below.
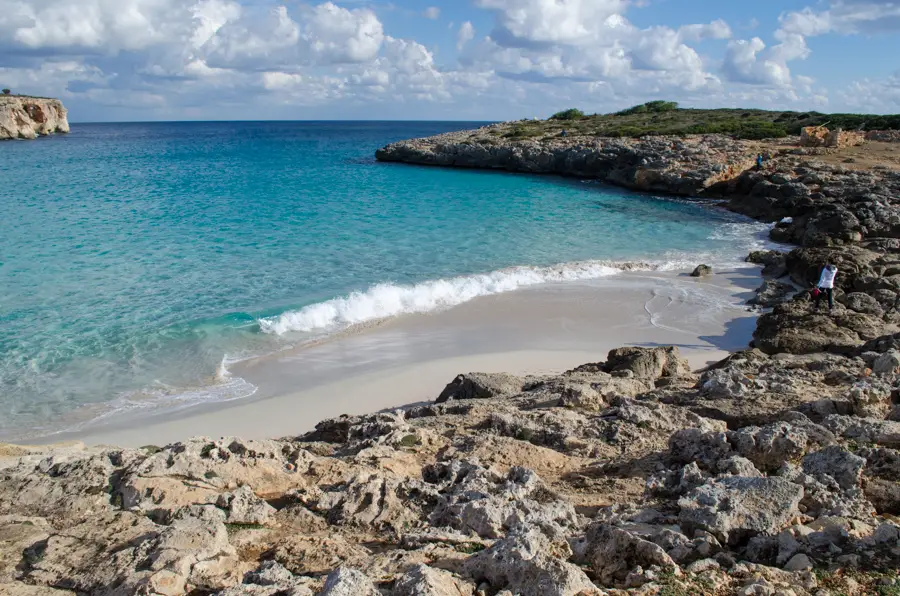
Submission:
M 678 519 L 687 533 L 701 529 L 736 544 L 777 534 L 799 513 L 802 498 L 802 487 L 781 478 L 724 477 L 682 497 Z

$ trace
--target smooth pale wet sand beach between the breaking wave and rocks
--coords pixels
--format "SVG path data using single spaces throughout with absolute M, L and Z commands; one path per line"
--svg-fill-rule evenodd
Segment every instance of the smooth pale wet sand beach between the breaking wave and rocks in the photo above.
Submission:
M 743 303 L 759 283 L 755 268 L 703 280 L 626 273 L 488 296 L 235 365 L 234 375 L 259 388 L 247 400 L 50 440 L 139 446 L 297 435 L 340 414 L 433 400 L 461 372 L 562 372 L 623 345 L 677 345 L 700 368 L 748 344 L 756 317 Z

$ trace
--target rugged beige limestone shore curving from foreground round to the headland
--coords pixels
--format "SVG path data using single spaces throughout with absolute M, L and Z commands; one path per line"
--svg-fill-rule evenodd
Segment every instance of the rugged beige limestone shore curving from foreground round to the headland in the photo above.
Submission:
M 748 257 L 772 307 L 755 347 L 703 371 L 620 348 L 562 375 L 464 374 L 434 404 L 280 440 L 8 447 L 0 592 L 900 593 L 900 174 L 791 150 L 754 172 L 753 145 L 710 137 L 561 157 L 582 142 L 548 163 L 779 222 L 797 248 Z M 400 145 L 379 159 L 449 155 Z M 440 165 L 531 171 L 527 145 Z M 837 304 L 817 313 L 793 288 L 826 261 Z

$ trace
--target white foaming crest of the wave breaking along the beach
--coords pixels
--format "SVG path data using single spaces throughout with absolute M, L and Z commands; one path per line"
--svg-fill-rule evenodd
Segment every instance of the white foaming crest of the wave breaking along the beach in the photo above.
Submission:
M 512 292 L 527 286 L 598 279 L 624 270 L 657 268 L 649 263 L 581 261 L 551 267 L 510 267 L 480 275 L 437 279 L 415 285 L 382 283 L 365 292 L 354 292 L 346 297 L 260 319 L 259 326 L 263 332 L 276 335 L 290 331 L 329 332 L 402 314 L 449 308 L 479 296 Z

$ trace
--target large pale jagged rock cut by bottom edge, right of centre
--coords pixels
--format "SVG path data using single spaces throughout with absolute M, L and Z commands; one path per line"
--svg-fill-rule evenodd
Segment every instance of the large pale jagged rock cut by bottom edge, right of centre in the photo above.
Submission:
M 463 563 L 462 573 L 476 584 L 520 596 L 599 596 L 584 572 L 567 563 L 567 544 L 551 543 L 538 530 L 515 532 Z

